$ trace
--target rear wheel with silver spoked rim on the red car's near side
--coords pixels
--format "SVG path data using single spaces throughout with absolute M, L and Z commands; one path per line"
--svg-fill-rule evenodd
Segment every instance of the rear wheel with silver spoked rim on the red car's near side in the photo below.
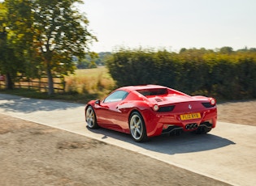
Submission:
M 129 118 L 129 128 L 132 139 L 135 142 L 145 142 L 148 140 L 145 122 L 139 112 L 132 112 Z

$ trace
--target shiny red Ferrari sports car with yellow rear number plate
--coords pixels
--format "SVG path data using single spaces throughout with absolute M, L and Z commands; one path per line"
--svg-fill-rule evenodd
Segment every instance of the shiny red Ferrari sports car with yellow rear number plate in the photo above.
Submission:
M 162 133 L 208 133 L 215 128 L 214 98 L 190 96 L 158 85 L 121 87 L 102 101 L 85 106 L 90 129 L 98 127 L 131 133 L 136 142 Z

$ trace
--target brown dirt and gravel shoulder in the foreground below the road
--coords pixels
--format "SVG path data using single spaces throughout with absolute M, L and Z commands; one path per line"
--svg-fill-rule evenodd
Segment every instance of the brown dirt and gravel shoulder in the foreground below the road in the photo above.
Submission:
M 0 118 L 0 185 L 228 185 L 89 137 Z

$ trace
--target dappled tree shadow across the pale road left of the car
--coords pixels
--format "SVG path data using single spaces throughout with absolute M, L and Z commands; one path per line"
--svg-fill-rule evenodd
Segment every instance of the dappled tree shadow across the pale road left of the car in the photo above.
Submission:
M 66 110 L 67 108 L 78 108 L 80 106 L 83 105 L 0 94 L 0 109 L 3 109 L 3 112 L 31 113 L 37 111 Z

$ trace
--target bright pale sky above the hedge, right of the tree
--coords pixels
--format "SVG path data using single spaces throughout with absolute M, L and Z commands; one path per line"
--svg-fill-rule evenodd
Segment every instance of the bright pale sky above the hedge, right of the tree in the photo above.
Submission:
M 255 0 L 84 0 L 91 49 L 256 48 Z

